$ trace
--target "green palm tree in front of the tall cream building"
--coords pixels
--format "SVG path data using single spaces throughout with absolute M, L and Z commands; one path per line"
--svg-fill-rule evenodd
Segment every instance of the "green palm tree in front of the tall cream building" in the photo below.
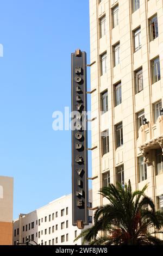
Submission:
M 83 244 L 90 245 L 163 245 L 156 237 L 162 233 L 163 212 L 155 211 L 153 200 L 145 195 L 146 188 L 132 192 L 130 180 L 124 187 L 118 182 L 116 187 L 103 187 L 99 193 L 109 204 L 98 207 L 95 224 L 76 240 L 83 237 Z

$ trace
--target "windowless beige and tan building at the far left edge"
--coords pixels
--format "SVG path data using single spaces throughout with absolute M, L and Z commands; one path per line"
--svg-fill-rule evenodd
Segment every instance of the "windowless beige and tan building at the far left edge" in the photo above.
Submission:
M 13 178 L 0 176 L 0 245 L 12 245 Z

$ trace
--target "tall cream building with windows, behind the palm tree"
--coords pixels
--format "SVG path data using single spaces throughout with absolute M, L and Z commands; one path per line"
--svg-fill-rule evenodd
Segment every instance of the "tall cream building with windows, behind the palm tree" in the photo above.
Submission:
M 109 182 L 163 208 L 163 1 L 90 0 L 93 209 Z

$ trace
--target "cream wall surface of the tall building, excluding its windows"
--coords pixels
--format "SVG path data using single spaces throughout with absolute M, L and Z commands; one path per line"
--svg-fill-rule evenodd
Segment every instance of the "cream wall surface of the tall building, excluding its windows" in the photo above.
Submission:
M 113 28 L 112 8 L 118 4 L 119 23 Z M 155 149 L 162 147 L 162 116 L 154 121 L 154 103 L 162 100 L 163 90 L 163 20 L 161 0 L 140 0 L 140 8 L 133 12 L 129 0 L 90 0 L 91 94 L 92 118 L 92 194 L 93 208 L 105 204 L 99 194 L 103 186 L 102 174 L 110 170 L 110 182 L 117 180 L 116 167 L 124 164 L 124 181 L 130 179 L 133 190 L 148 184 L 147 194 L 158 209 L 158 197 L 163 194 L 163 173 L 156 175 Z M 150 40 L 149 19 L 157 14 L 159 36 Z M 106 17 L 106 34 L 101 38 L 99 19 Z M 141 26 L 141 49 L 134 51 L 134 30 Z M 120 64 L 114 66 L 114 45 L 120 42 Z M 107 71 L 101 75 L 101 54 L 107 54 Z M 159 56 L 161 79 L 152 83 L 151 60 Z M 135 94 L 134 71 L 142 67 L 143 90 Z M 114 85 L 121 81 L 122 103 L 115 106 Z M 108 112 L 101 114 L 101 93 L 108 90 Z M 144 109 L 148 124 L 137 130 L 137 113 Z M 123 145 L 116 148 L 115 125 L 122 121 Z M 102 156 L 101 132 L 109 129 L 109 153 Z M 158 139 L 159 138 L 159 139 Z M 152 140 L 153 144 L 152 144 Z M 158 141 L 157 141 L 158 139 Z M 144 145 L 144 143 L 147 143 Z M 143 147 L 141 150 L 140 146 Z M 144 150 L 144 151 L 143 151 Z M 147 179 L 139 182 L 139 156 L 148 153 Z

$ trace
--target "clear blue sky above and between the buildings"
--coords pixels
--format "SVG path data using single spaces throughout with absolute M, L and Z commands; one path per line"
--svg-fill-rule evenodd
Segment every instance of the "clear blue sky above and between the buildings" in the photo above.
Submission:
M 71 106 L 71 52 L 89 63 L 89 37 L 89 0 L 1 0 L 0 175 L 14 177 L 14 218 L 71 193 L 71 131 L 53 131 L 52 114 Z

